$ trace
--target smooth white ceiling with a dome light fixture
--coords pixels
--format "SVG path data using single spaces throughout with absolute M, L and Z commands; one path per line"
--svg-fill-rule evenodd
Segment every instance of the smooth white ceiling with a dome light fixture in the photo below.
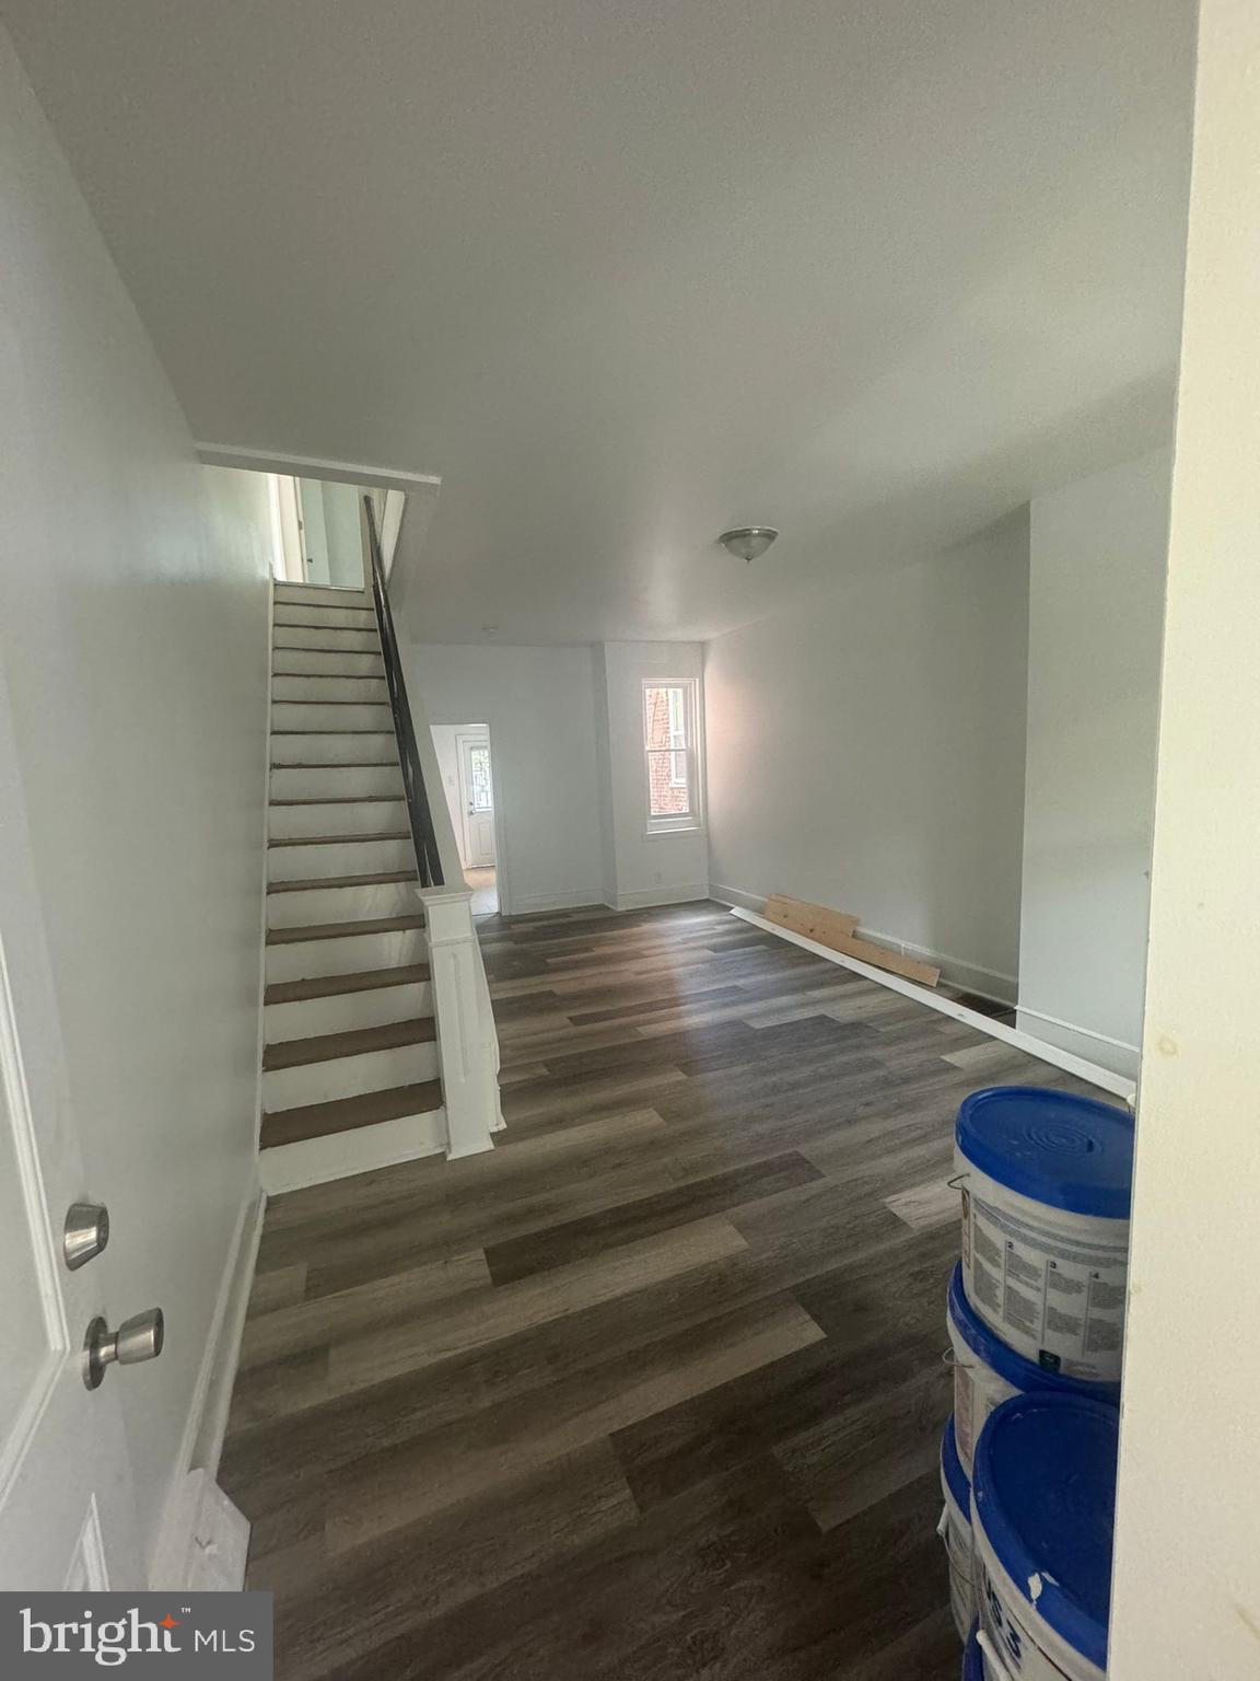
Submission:
M 430 639 L 711 635 L 1169 432 L 1188 0 L 0 17 L 195 435 L 442 476 Z

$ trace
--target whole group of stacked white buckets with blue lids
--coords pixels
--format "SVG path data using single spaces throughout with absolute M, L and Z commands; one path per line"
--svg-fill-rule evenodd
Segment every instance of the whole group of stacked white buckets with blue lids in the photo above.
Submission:
M 1105 1681 L 1132 1120 L 1038 1086 L 958 1111 L 941 1444 L 964 1681 Z

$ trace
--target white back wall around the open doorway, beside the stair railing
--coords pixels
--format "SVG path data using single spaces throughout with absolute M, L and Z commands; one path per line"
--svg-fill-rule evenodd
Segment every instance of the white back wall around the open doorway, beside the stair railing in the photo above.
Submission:
M 398 630 L 407 635 L 405 624 Z M 489 725 L 506 909 L 524 916 L 598 904 L 603 872 L 590 647 L 403 642 L 402 651 L 408 693 L 428 725 L 469 718 Z

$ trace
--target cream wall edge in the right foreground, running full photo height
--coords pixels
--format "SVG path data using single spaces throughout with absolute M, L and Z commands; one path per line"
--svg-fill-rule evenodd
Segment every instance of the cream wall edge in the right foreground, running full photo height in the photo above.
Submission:
M 1260 8 L 1203 0 L 1107 1674 L 1260 1674 Z

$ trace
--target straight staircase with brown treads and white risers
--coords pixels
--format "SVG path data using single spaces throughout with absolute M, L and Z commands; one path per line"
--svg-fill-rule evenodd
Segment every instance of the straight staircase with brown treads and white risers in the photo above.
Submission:
M 272 1194 L 447 1148 L 371 597 L 274 592 L 260 1131 Z

